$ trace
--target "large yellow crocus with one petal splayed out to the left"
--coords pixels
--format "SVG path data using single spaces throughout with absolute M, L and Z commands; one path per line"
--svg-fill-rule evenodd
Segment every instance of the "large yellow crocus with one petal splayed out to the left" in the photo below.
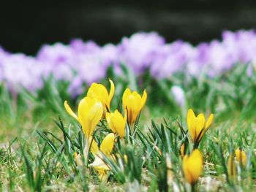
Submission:
M 78 104 L 78 115 L 76 115 L 75 112 L 71 110 L 67 104 L 67 101 L 64 102 L 64 107 L 66 108 L 69 115 L 78 120 L 83 128 L 83 133 L 86 135 L 86 138 L 89 139 L 94 131 L 94 128 L 102 118 L 102 103 L 96 98 L 90 98 L 86 96 Z

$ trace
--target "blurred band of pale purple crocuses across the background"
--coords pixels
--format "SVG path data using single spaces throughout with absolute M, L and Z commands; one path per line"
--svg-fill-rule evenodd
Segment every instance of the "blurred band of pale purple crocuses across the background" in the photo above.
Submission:
M 157 33 L 137 33 L 124 37 L 118 45 L 100 47 L 94 42 L 75 39 L 69 45 L 44 45 L 35 57 L 10 54 L 0 48 L 0 82 L 18 91 L 42 88 L 43 78 L 70 82 L 69 93 L 80 94 L 82 85 L 99 82 L 109 66 L 121 74 L 126 64 L 135 74 L 149 70 L 157 79 L 185 71 L 194 76 L 201 72 L 212 77 L 231 69 L 235 64 L 256 61 L 255 31 L 225 31 L 222 41 L 213 40 L 197 46 L 183 41 L 166 43 Z M 14 75 L 15 74 L 15 75 Z

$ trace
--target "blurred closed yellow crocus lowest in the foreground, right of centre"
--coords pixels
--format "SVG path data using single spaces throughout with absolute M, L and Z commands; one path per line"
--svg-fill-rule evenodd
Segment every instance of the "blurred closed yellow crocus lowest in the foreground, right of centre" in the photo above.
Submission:
M 190 185 L 195 185 L 203 172 L 203 156 L 199 150 L 194 150 L 191 155 L 185 155 L 182 162 L 184 176 Z

